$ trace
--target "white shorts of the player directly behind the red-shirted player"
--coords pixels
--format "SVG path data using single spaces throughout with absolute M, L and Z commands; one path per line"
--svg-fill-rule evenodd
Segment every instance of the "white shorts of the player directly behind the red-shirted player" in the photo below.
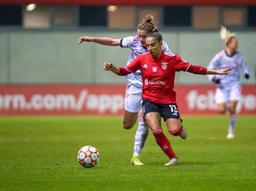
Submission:
M 129 112 L 139 112 L 142 106 L 142 88 L 129 85 L 125 93 L 125 110 Z

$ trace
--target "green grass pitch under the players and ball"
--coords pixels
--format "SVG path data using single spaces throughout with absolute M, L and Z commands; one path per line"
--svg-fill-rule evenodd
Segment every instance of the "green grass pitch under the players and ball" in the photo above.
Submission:
M 0 190 L 256 190 L 256 116 L 239 116 L 235 139 L 228 116 L 182 117 L 186 140 L 163 125 L 181 162 L 168 167 L 151 132 L 145 165 L 131 165 L 137 124 L 121 117 L 1 117 Z M 100 153 L 91 169 L 77 161 L 85 145 Z

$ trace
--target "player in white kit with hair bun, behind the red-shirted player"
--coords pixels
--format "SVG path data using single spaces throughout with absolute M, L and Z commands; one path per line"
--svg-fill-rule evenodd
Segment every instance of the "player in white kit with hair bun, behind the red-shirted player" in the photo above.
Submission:
M 138 24 L 138 35 L 129 36 L 123 39 L 111 39 L 107 37 L 88 37 L 83 36 L 78 40 L 78 44 L 86 42 L 95 42 L 103 44 L 106 46 L 120 46 L 122 48 L 130 48 L 132 53 L 127 61 L 129 65 L 138 55 L 148 53 L 147 45 L 145 44 L 145 39 L 153 29 L 156 27 L 152 15 L 147 15 L 144 17 L 143 21 Z M 166 53 L 170 53 L 168 45 L 163 41 L 162 50 Z M 126 66 L 127 66 L 126 65 Z M 145 66 L 147 67 L 147 66 Z M 143 165 L 139 160 L 141 152 L 144 148 L 145 141 L 148 137 L 149 126 L 144 118 L 142 107 L 142 75 L 139 69 L 136 73 L 131 73 L 126 76 L 128 79 L 128 84 L 126 88 L 125 95 L 125 112 L 123 116 L 123 127 L 124 129 L 131 129 L 137 122 L 139 122 L 138 130 L 135 135 L 135 144 L 133 157 L 131 159 L 132 164 Z M 139 114 L 140 111 L 140 114 Z M 139 114 L 139 118 L 138 118 Z

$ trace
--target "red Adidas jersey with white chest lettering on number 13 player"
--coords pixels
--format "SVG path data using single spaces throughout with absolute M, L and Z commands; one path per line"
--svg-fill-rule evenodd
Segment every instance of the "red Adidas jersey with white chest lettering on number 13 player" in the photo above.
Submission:
M 190 68 L 190 63 L 173 53 L 162 52 L 160 58 L 157 59 L 147 53 L 138 56 L 125 68 L 127 71 L 120 68 L 120 75 L 122 75 L 121 73 L 127 75 L 141 69 L 143 100 L 159 104 L 176 104 L 176 92 L 173 90 L 175 72 L 186 72 Z

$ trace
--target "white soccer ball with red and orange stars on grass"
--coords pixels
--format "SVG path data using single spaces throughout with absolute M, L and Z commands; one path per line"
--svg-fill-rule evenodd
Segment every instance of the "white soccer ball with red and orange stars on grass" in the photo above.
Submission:
M 85 168 L 92 168 L 100 161 L 99 151 L 92 146 L 84 146 L 78 151 L 78 162 Z

